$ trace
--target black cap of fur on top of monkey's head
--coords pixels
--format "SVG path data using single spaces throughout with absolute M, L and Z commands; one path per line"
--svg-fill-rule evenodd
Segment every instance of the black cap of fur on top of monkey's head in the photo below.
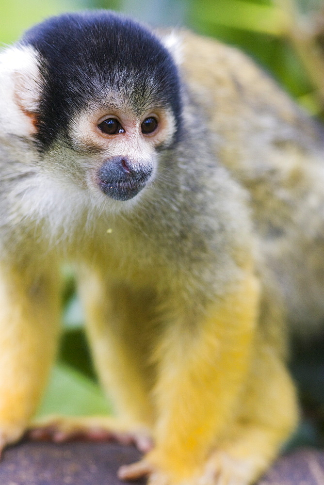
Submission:
M 113 93 L 140 115 L 153 104 L 181 116 L 177 67 L 159 39 L 140 24 L 109 11 L 52 17 L 27 31 L 21 44 L 41 54 L 44 91 L 36 138 L 47 149 L 76 113 Z

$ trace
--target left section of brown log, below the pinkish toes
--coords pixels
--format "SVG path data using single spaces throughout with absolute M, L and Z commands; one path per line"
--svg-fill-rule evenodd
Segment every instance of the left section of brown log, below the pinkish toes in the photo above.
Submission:
M 115 443 L 26 441 L 3 453 L 0 484 L 125 485 L 118 480 L 117 469 L 140 457 L 135 447 Z M 145 483 L 145 480 L 132 482 Z

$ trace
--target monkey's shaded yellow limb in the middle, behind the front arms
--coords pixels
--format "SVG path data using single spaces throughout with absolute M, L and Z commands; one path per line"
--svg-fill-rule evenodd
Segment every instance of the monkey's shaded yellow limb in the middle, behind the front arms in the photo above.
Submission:
M 146 358 L 154 297 L 108 279 L 85 269 L 79 275 L 94 363 L 120 419 L 130 429 L 149 427 L 154 413 L 148 396 L 154 378 Z

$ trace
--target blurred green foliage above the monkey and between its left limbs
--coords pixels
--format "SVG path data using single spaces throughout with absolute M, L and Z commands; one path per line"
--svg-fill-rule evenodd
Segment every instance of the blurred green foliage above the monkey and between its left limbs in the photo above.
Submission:
M 319 3 L 321 0 L 301 0 L 299 6 L 309 11 Z M 309 113 L 322 113 L 315 89 L 284 34 L 282 12 L 271 0 L 0 0 L 0 43 L 16 41 L 25 29 L 49 15 L 89 8 L 115 9 L 155 25 L 176 22 L 237 46 L 253 56 Z M 82 310 L 68 269 L 65 281 L 62 342 L 39 414 L 109 413 L 111 405 L 91 365 Z M 309 430 L 307 434 L 311 435 Z

